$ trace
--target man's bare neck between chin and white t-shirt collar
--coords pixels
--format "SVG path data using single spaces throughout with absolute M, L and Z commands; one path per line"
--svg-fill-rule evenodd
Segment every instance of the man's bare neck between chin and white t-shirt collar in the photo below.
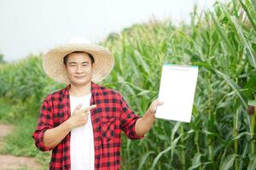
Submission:
M 90 94 L 90 87 L 91 87 L 90 82 L 88 82 L 87 84 L 82 85 L 82 86 L 77 86 L 77 85 L 74 85 L 71 83 L 70 88 L 69 88 L 69 94 L 73 95 L 75 97 L 88 95 L 88 94 Z

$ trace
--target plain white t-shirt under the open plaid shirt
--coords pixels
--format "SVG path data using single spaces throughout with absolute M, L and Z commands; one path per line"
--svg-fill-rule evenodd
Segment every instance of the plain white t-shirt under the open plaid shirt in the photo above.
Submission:
M 82 104 L 81 109 L 90 105 L 91 94 L 74 97 L 70 95 L 70 111 L 73 114 L 77 105 Z M 72 170 L 94 170 L 94 139 L 90 119 L 83 127 L 73 128 L 70 139 L 70 158 Z

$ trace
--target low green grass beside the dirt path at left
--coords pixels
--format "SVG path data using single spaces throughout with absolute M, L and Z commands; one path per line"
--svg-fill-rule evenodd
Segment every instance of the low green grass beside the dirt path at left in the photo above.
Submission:
M 14 132 L 4 138 L 4 145 L 0 154 L 36 157 L 38 162 L 42 164 L 42 169 L 47 169 L 49 167 L 49 152 L 38 152 L 32 139 L 37 117 L 25 113 L 26 105 L 12 105 L 10 101 L 5 99 L 0 99 L 0 101 L 0 122 L 9 123 L 15 127 Z

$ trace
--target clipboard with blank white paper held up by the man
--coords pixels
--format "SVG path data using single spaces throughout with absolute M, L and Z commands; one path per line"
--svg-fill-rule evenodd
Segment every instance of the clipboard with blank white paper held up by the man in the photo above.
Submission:
M 158 106 L 155 117 L 190 122 L 198 76 L 198 66 L 172 65 L 162 67 L 158 99 L 164 101 Z

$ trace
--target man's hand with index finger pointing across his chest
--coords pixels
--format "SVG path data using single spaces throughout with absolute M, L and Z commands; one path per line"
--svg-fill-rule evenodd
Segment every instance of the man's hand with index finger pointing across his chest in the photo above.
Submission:
M 82 127 L 88 122 L 89 111 L 91 109 L 96 108 L 96 105 L 90 105 L 83 110 L 80 110 L 82 104 L 78 105 L 73 111 L 72 116 L 67 119 L 67 123 L 70 128 L 73 129 L 75 127 Z

